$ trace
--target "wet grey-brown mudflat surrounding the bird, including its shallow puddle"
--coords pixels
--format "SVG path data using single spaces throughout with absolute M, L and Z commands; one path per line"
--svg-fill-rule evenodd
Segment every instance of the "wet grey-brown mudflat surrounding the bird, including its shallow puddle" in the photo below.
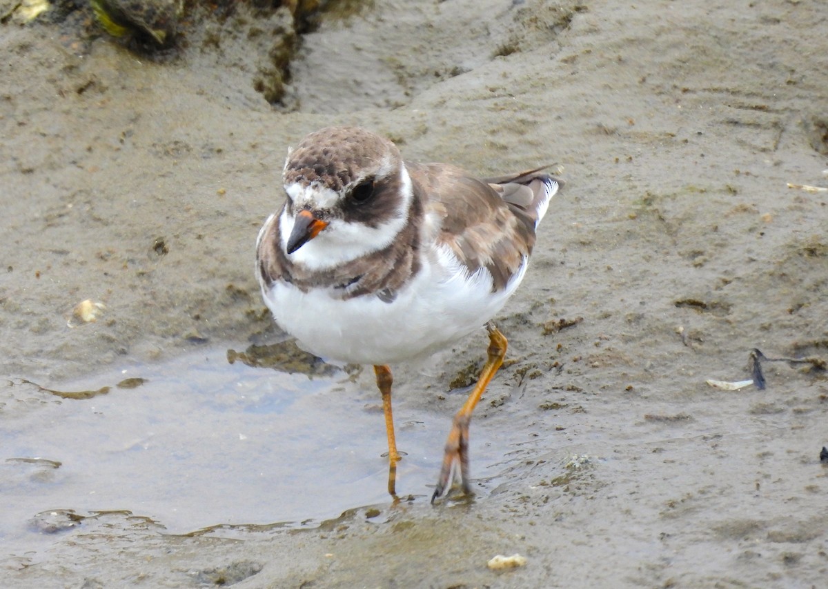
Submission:
M 261 18 L 163 58 L 0 25 L 4 584 L 824 585 L 828 193 L 788 187 L 828 185 L 822 2 L 370 2 L 303 37 L 289 108 L 254 89 Z M 254 242 L 329 124 L 564 168 L 472 499 L 428 496 L 482 331 L 395 367 L 396 505 L 370 371 L 238 360 L 284 339 Z M 705 384 L 753 348 L 810 362 Z

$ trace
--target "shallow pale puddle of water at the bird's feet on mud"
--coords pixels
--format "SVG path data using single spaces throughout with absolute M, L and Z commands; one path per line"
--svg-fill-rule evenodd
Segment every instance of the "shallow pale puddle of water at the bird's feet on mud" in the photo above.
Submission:
M 231 364 L 214 348 L 48 388 L 17 386 L 41 401 L 36 411 L 7 411 L 0 433 L 3 556 L 48 543 L 31 519 L 49 510 L 125 511 L 185 534 L 221 524 L 312 527 L 391 501 L 383 414 L 368 376 Z M 450 419 L 397 405 L 397 444 L 407 453 L 397 492 L 427 502 Z M 485 476 L 487 465 L 502 468 L 508 448 L 475 424 L 472 451 Z

